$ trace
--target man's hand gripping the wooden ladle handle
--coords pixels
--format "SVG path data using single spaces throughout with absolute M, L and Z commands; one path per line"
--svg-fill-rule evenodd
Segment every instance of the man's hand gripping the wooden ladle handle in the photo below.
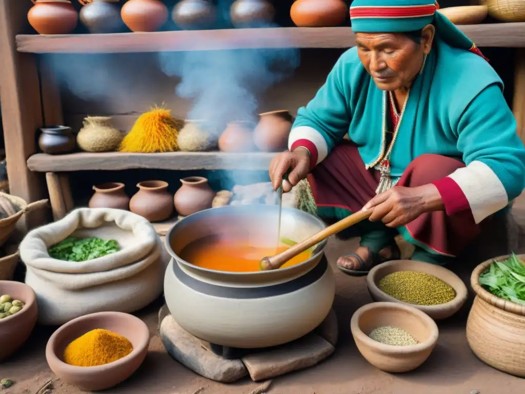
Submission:
M 399 227 L 423 213 L 444 210 L 444 205 L 436 186 L 427 184 L 415 188 L 394 186 L 377 194 L 363 206 L 363 210 L 371 208 L 374 209 L 371 221 L 381 221 L 387 227 Z

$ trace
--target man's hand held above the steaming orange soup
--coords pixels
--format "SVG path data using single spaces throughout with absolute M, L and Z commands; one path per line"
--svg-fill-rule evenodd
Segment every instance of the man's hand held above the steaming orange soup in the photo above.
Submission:
M 291 169 L 288 180 L 282 177 L 288 169 Z M 270 162 L 270 179 L 274 190 L 279 189 L 282 183 L 282 191 L 287 193 L 292 190 L 299 181 L 306 178 L 310 170 L 310 153 L 306 148 L 297 148 L 295 151 L 285 151 L 277 154 Z

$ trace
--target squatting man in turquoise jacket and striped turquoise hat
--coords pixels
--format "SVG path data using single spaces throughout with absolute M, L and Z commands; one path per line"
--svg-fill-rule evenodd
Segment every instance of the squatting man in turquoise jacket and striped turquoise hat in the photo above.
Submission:
M 361 246 L 338 260 L 351 275 L 398 258 L 399 233 L 414 260 L 444 264 L 525 188 L 525 148 L 502 81 L 437 7 L 353 1 L 357 46 L 299 109 L 289 151 L 270 164 L 274 188 L 307 178 L 329 221 L 373 210 L 357 227 Z

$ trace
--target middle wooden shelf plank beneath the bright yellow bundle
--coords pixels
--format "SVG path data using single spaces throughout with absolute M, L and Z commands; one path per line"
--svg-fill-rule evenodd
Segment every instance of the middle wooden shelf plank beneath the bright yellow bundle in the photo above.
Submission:
M 37 172 L 86 170 L 268 170 L 276 153 L 168 152 L 168 153 L 37 153 L 29 157 L 27 167 Z

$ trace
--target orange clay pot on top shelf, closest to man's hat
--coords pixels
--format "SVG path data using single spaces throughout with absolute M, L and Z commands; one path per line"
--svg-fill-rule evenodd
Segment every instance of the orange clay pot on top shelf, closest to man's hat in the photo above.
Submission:
M 290 8 L 293 23 L 301 27 L 338 26 L 348 13 L 343 0 L 297 0 Z

